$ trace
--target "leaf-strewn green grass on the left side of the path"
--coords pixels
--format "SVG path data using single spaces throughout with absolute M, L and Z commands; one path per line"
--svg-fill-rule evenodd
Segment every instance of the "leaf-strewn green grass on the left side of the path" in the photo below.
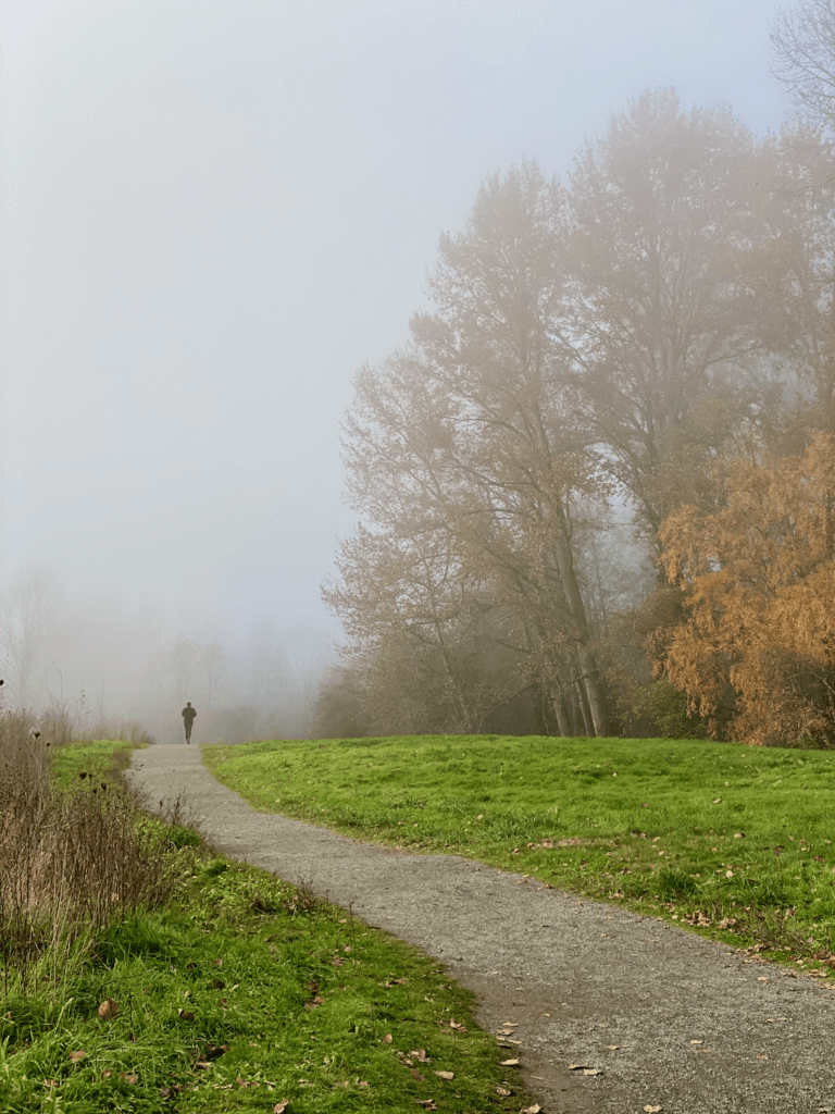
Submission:
M 55 779 L 100 792 L 121 749 L 62 750 Z M 116 915 L 59 970 L 45 944 L 35 991 L 16 987 L 13 960 L 3 967 L 2 1114 L 463 1114 L 533 1103 L 501 1066 L 512 1053 L 422 954 L 209 854 L 188 829 L 143 823 L 167 844 L 165 907 Z

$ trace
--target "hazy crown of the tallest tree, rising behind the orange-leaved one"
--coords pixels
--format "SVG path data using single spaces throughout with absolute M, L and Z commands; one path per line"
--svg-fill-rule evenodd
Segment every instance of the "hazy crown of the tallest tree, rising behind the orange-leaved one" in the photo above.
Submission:
M 729 111 L 645 92 L 577 158 L 568 193 L 579 409 L 655 541 L 659 472 L 688 413 L 733 399 L 763 350 L 754 137 Z

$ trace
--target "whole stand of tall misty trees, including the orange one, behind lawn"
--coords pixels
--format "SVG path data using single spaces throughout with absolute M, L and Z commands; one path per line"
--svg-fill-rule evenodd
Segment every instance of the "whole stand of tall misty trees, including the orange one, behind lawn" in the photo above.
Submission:
M 355 379 L 316 734 L 835 741 L 834 190 L 672 91 L 484 184 Z

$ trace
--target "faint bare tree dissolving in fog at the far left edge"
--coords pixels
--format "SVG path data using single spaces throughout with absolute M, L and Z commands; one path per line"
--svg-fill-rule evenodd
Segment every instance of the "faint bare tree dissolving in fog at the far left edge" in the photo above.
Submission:
M 60 638 L 60 575 L 48 565 L 21 569 L 0 596 L 0 651 L 10 696 L 31 707 L 43 686 Z

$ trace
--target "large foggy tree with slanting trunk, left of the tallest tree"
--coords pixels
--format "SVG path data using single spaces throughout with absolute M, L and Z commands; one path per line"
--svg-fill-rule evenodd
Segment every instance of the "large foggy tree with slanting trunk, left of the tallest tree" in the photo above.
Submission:
M 534 164 L 491 178 L 441 241 L 436 311 L 412 321 L 412 349 L 360 373 L 345 427 L 374 528 L 343 547 L 326 598 L 352 637 L 384 618 L 422 641 L 465 730 L 482 714 L 463 667 L 478 618 L 481 642 L 492 628 L 529 658 L 563 733 L 606 733 L 573 545 L 578 498 L 603 487 L 566 404 L 563 223 Z

